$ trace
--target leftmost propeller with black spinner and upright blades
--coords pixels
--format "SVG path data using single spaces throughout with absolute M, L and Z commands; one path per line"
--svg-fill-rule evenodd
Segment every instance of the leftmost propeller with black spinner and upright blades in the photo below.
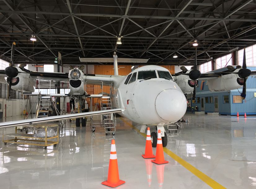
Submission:
M 11 96 L 11 81 L 12 81 L 12 78 L 13 77 L 16 77 L 18 75 L 18 70 L 17 68 L 13 67 L 13 55 L 14 55 L 14 51 L 15 51 L 15 46 L 16 46 L 16 43 L 13 42 L 12 43 L 12 46 L 11 46 L 11 63 L 10 63 L 10 66 L 5 68 L 4 72 L 5 74 L 8 76 L 8 99 L 10 98 Z

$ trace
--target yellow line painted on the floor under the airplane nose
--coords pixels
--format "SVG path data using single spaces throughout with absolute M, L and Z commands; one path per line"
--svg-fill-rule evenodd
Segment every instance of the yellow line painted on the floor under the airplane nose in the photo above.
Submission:
M 122 121 L 124 121 L 126 124 L 130 125 L 134 130 L 136 130 L 139 134 L 141 134 L 143 137 L 146 138 L 145 133 L 141 133 L 139 129 L 135 128 L 132 124 L 125 121 L 123 118 L 121 118 Z M 172 151 L 167 149 L 166 147 L 163 147 L 164 152 L 168 154 L 171 158 L 173 158 L 175 161 L 177 161 L 180 165 L 188 169 L 191 173 L 196 175 L 198 178 L 200 178 L 202 181 L 204 181 L 206 184 L 208 184 L 212 188 L 225 188 L 222 185 L 220 185 L 218 182 L 214 181 L 212 178 L 208 177 L 206 174 L 202 173 L 198 169 L 196 169 L 194 166 L 189 164 L 187 161 L 183 160 L 181 157 L 174 154 Z

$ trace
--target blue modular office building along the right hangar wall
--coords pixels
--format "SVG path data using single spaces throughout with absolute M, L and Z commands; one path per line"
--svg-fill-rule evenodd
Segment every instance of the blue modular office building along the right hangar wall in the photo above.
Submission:
M 256 67 L 247 67 L 255 71 Z M 224 71 L 226 68 L 218 69 Z M 225 92 L 211 92 L 208 88 L 207 81 L 199 81 L 196 87 L 196 103 L 192 106 L 198 106 L 199 111 L 205 112 L 219 112 L 224 115 L 256 115 L 256 78 L 250 76 L 246 81 L 246 98 L 242 100 L 240 89 L 225 91 Z M 192 102 L 192 100 L 191 100 Z

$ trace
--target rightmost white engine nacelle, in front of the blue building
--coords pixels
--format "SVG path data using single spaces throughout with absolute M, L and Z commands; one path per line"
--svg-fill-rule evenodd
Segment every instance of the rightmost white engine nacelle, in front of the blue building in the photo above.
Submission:
M 208 80 L 207 84 L 209 90 L 212 92 L 228 91 L 241 88 L 241 85 L 243 85 L 243 79 L 239 78 L 237 74 L 231 73 L 219 78 Z

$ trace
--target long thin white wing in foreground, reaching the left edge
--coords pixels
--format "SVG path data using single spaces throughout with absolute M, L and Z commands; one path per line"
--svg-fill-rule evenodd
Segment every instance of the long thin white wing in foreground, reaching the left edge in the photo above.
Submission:
M 21 125 L 33 125 L 38 123 L 47 123 L 51 121 L 61 121 L 61 120 L 68 120 L 74 118 L 81 118 L 81 117 L 88 117 L 88 116 L 96 116 L 108 113 L 117 113 L 122 112 L 121 108 L 110 109 L 110 110 L 101 110 L 95 112 L 83 112 L 83 113 L 74 113 L 74 114 L 67 114 L 61 116 L 50 116 L 50 117 L 42 117 L 42 118 L 34 118 L 34 119 L 26 119 L 26 120 L 19 120 L 19 121 L 8 121 L 0 123 L 0 128 L 7 128 L 7 127 L 15 127 Z

